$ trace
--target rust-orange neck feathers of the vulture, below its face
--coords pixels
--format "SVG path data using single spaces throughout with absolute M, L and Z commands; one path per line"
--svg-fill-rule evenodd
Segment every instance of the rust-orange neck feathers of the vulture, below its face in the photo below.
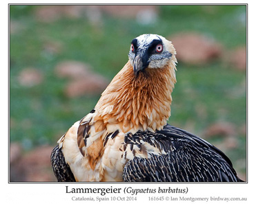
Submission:
M 102 93 L 95 106 L 95 120 L 124 133 L 163 128 L 170 116 L 175 69 L 171 60 L 163 68 L 147 68 L 135 77 L 128 61 Z

